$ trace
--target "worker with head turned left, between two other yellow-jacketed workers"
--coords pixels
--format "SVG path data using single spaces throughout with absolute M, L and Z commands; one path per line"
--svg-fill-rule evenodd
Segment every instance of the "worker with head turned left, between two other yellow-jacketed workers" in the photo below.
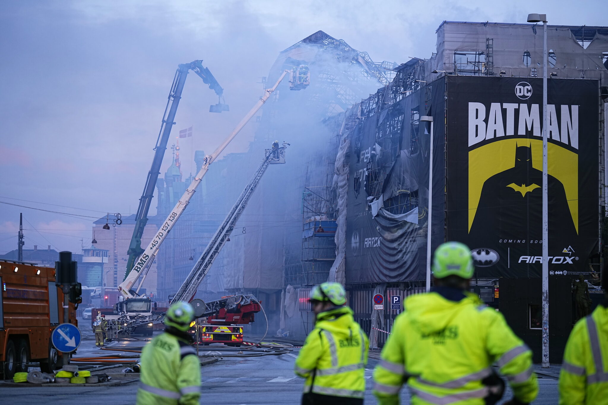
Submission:
M 365 392 L 368 340 L 347 307 L 344 287 L 325 282 L 311 289 L 314 329 L 295 360 L 306 378 L 302 405 L 359 405 Z

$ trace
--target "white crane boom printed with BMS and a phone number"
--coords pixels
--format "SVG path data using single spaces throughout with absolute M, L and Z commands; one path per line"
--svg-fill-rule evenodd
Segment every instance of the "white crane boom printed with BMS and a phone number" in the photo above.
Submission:
M 278 78 L 277 83 L 275 83 L 274 86 L 272 86 L 270 89 L 265 89 L 264 95 L 260 97 L 260 100 L 258 100 L 255 106 L 251 109 L 251 111 L 249 111 L 247 115 L 243 117 L 241 122 L 238 123 L 237 127 L 233 129 L 232 132 L 230 132 L 230 134 L 223 141 L 223 143 L 221 143 L 221 145 L 219 145 L 215 149 L 215 151 L 213 151 L 212 154 L 206 155 L 201 170 L 196 174 L 195 179 L 192 180 L 192 183 L 190 183 L 190 186 L 188 186 L 181 199 L 179 199 L 178 203 L 176 203 L 176 205 L 173 207 L 173 210 L 171 210 L 171 213 L 168 215 L 165 222 L 162 223 L 156 235 L 154 235 L 154 237 L 148 244 L 148 247 L 143 250 L 139 256 L 137 256 L 136 260 L 133 261 L 133 270 L 129 272 L 129 267 L 127 267 L 127 274 L 125 276 L 125 280 L 118 287 L 120 293 L 123 295 L 124 298 L 134 298 L 134 296 L 136 296 L 136 294 L 131 292 L 131 288 L 133 288 L 133 285 L 139 278 L 140 274 L 142 273 L 142 270 L 147 271 L 152 265 L 152 262 L 156 257 L 162 242 L 164 242 L 165 238 L 167 237 L 167 234 L 171 231 L 171 229 L 173 229 L 173 226 L 175 225 L 181 214 L 184 213 L 184 209 L 190 202 L 190 199 L 192 199 L 192 196 L 194 196 L 196 188 L 201 183 L 202 178 L 209 170 L 209 165 L 211 165 L 211 163 L 215 161 L 215 159 L 221 154 L 221 152 L 224 151 L 226 146 L 228 146 L 230 141 L 232 141 L 234 137 L 237 136 L 237 134 L 241 131 L 241 129 L 243 129 L 243 127 L 247 124 L 247 122 L 249 122 L 251 117 L 254 116 L 254 114 L 261 108 L 261 106 L 264 105 L 264 103 L 266 103 L 266 100 L 268 100 L 272 92 L 277 89 L 277 86 L 281 83 L 283 78 L 285 78 L 288 73 L 290 73 L 290 71 L 285 70 Z M 285 149 L 283 148 L 282 150 L 284 151 Z

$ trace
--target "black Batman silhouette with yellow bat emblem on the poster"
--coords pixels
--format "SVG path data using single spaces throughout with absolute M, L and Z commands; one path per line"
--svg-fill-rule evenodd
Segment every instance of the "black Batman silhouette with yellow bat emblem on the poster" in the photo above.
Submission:
M 548 203 L 551 240 L 574 243 L 576 228 L 564 185 L 551 175 Z M 516 146 L 514 167 L 483 183 L 469 237 L 475 247 L 483 247 L 489 238 L 542 240 L 542 171 L 533 168 L 530 147 Z

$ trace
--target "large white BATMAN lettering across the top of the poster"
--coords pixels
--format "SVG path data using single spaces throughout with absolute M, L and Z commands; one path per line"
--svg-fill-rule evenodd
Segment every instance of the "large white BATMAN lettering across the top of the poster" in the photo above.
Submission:
M 578 149 L 578 106 L 548 104 L 547 115 L 548 137 Z M 469 146 L 495 137 L 526 135 L 527 131 L 540 138 L 541 123 L 539 104 L 491 103 L 488 112 L 485 104 L 469 103 Z

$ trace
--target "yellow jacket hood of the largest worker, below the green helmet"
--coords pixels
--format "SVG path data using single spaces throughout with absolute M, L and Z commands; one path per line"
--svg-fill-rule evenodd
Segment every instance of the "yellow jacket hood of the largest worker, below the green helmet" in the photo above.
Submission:
M 451 301 L 439 293 L 430 292 L 407 298 L 404 310 L 413 327 L 424 333 L 433 333 L 445 328 L 464 308 L 482 304 L 477 295 L 469 292 L 465 292 L 465 298 L 460 301 Z

